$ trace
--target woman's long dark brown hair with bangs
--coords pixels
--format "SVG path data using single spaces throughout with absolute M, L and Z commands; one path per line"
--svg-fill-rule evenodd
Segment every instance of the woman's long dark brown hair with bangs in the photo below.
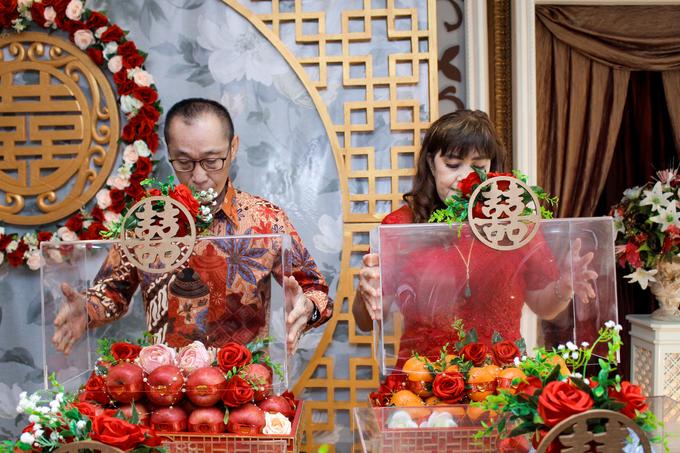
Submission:
M 420 148 L 413 188 L 404 194 L 404 201 L 413 213 L 413 223 L 427 222 L 434 211 L 446 207 L 437 194 L 430 167 L 437 154 L 464 159 L 475 151 L 491 159 L 490 171 L 506 171 L 505 146 L 486 113 L 457 110 L 430 126 Z

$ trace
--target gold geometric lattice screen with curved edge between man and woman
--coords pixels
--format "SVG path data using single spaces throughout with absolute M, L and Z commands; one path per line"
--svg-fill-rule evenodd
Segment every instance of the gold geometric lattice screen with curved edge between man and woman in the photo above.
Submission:
M 352 357 L 349 363 L 338 363 L 327 350 L 338 328 L 348 330 L 349 347 L 365 349 L 372 344 L 370 335 L 355 332 L 351 301 L 354 298 L 361 257 L 368 250 L 368 232 L 380 222 L 385 213 L 399 207 L 403 191 L 410 188 L 410 177 L 414 173 L 413 165 L 423 132 L 429 127 L 430 118 L 438 117 L 435 0 L 415 3 L 420 8 L 396 8 L 394 0 L 386 0 L 383 2 L 384 7 L 379 9 L 372 5 L 380 2 L 364 0 L 363 8 L 341 12 L 340 32 L 334 34 L 326 32 L 327 24 L 331 19 L 337 18 L 327 17 L 324 11 L 306 10 L 302 0 L 250 2 L 257 4 L 257 10 L 261 10 L 263 4 L 271 5 L 270 12 L 266 14 L 254 14 L 236 0 L 223 1 L 257 27 L 296 71 L 319 111 L 338 166 L 344 226 L 336 311 L 316 353 L 293 389 L 296 394 L 303 389 L 325 390 L 325 401 L 306 403 L 306 444 L 302 451 L 315 452 L 320 445 L 314 441 L 313 432 L 333 431 L 337 411 L 351 414 L 355 406 L 365 406 L 366 395 L 379 385 L 378 367 L 372 358 Z M 352 4 L 357 3 L 359 2 Z M 426 12 L 427 17 L 422 17 L 423 12 Z M 375 20 L 386 22 L 387 36 L 376 35 L 373 26 Z M 286 22 L 295 24 L 296 43 L 314 46 L 318 49 L 318 56 L 296 58 L 285 47 L 281 24 Z M 316 32 L 303 33 L 310 26 Z M 374 74 L 373 55 L 352 53 L 356 48 L 354 43 L 372 42 L 374 39 L 399 42 L 400 49 L 409 49 L 407 52 L 386 55 L 387 75 Z M 320 97 L 320 93 L 328 86 L 328 69 L 331 65 L 341 65 L 344 89 L 365 92 L 364 99 L 345 102 L 342 119 L 335 123 L 331 121 Z M 318 69 L 318 80 L 311 80 L 304 67 Z M 413 95 L 417 92 L 414 87 L 420 87 L 421 90 L 424 87 L 427 93 L 426 103 Z M 408 93 L 412 95 L 409 96 Z M 374 147 L 354 146 L 355 139 L 359 136 L 376 134 L 375 139 L 381 139 L 376 131 L 376 112 L 388 112 L 388 133 L 402 138 L 399 146 L 389 149 L 387 168 L 385 165 L 377 168 Z M 357 189 L 359 187 L 367 190 Z M 339 368 L 347 368 L 350 378 L 337 378 Z M 371 370 L 371 379 L 356 379 L 359 369 L 367 368 Z M 343 394 L 349 391 L 349 398 L 343 397 L 342 401 L 336 398 L 339 390 Z M 315 412 L 327 413 L 328 421 L 314 423 L 312 417 Z M 335 451 L 333 446 L 331 451 Z

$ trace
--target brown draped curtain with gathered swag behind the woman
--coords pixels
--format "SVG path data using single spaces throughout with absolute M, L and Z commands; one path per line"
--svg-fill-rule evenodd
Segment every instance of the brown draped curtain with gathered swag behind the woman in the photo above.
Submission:
M 679 21 L 673 6 L 536 6 L 538 182 L 559 197 L 558 217 L 595 212 L 630 71 L 663 71 L 680 143 Z

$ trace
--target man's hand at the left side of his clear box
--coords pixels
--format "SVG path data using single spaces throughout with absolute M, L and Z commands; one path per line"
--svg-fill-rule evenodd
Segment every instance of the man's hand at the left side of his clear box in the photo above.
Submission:
M 57 351 L 64 351 L 64 355 L 69 355 L 75 342 L 87 329 L 87 311 L 85 298 L 68 283 L 61 284 L 61 292 L 66 300 L 54 320 L 57 329 L 52 336 L 52 343 L 57 345 Z

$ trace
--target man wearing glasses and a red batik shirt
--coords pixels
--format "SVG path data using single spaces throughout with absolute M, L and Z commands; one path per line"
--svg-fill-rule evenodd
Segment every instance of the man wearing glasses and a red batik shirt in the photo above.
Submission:
M 297 350 L 300 334 L 330 319 L 333 314 L 333 301 L 328 297 L 328 285 L 302 244 L 300 237 L 288 220 L 286 214 L 262 198 L 234 189 L 229 180 L 229 168 L 236 157 L 239 137 L 234 134 L 234 126 L 227 110 L 219 103 L 206 99 L 185 99 L 175 104 L 166 116 L 165 141 L 168 156 L 180 183 L 193 186 L 196 191 L 213 189 L 219 194 L 212 206 L 213 221 L 208 230 L 210 236 L 234 236 L 248 234 L 286 233 L 292 238 L 292 276 L 283 277 L 282 284 L 288 289 L 287 306 L 293 307 L 287 316 L 288 350 Z M 208 246 L 210 247 L 210 246 Z M 202 256 L 189 260 L 189 265 L 197 269 L 204 262 L 222 262 L 228 268 L 238 264 L 240 256 L 225 255 L 213 247 Z M 220 255 L 221 258 L 220 258 Z M 221 259 L 221 261 L 220 261 Z M 203 260 L 203 261 L 201 261 Z M 234 261 L 234 262 L 232 262 Z M 70 286 L 62 285 L 68 299 L 54 321 L 56 332 L 52 341 L 58 351 L 69 354 L 75 341 L 86 328 L 99 327 L 112 322 L 127 312 L 132 295 L 141 285 L 147 326 L 151 333 L 170 346 L 201 340 L 207 345 L 222 346 L 227 341 L 245 343 L 255 337 L 259 329 L 268 328 L 268 293 L 264 294 L 262 281 L 255 281 L 252 270 L 262 270 L 257 256 L 248 257 L 249 266 L 234 268 L 227 278 L 221 278 L 219 266 L 217 281 L 210 291 L 210 303 L 219 304 L 223 316 L 218 324 L 236 326 L 238 332 L 230 332 L 227 327 L 217 329 L 219 338 L 202 337 L 205 329 L 197 317 L 183 316 L 177 301 L 169 296 L 168 287 L 175 274 L 145 274 L 134 268 L 119 249 L 112 249 L 97 276 L 92 288 L 85 297 L 76 293 Z M 243 265 L 242 265 L 243 266 Z M 246 266 L 247 267 L 247 266 Z M 145 274 L 145 275 L 140 275 Z M 197 274 L 198 275 L 198 274 Z M 255 275 L 258 274 L 257 272 Z M 177 276 L 176 278 L 179 278 Z M 268 276 L 266 278 L 269 278 Z M 87 305 L 87 308 L 85 308 Z M 266 306 L 265 306 L 266 305 Z M 248 323 L 242 322 L 242 307 L 254 307 Z M 226 310 L 229 307 L 229 310 Z M 214 307 L 213 307 L 214 308 Z M 235 313 L 229 318 L 222 312 Z M 215 318 L 215 313 L 211 314 Z M 237 320 L 236 318 L 240 318 Z M 253 321 L 255 319 L 256 321 Z M 219 326 L 218 326 L 219 327 Z M 235 329 L 236 329 L 235 328 Z M 234 330 L 235 330 L 234 329 Z M 246 331 L 244 331 L 246 329 Z M 247 330 L 249 329 L 249 330 Z M 196 332 L 187 338 L 186 332 Z M 245 341 L 244 341 L 245 340 Z

